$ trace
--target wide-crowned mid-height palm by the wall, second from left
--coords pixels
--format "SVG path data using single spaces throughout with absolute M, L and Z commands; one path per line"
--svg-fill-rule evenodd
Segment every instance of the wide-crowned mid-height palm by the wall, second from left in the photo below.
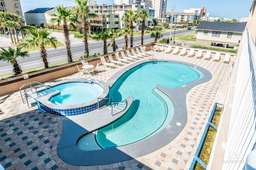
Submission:
M 34 48 L 40 47 L 40 55 L 44 62 L 44 67 L 48 68 L 47 53 L 45 46 L 52 45 L 56 49 L 57 41 L 56 37 L 49 37 L 50 32 L 47 29 L 28 29 L 29 37 L 24 39 L 20 44 L 21 47 Z

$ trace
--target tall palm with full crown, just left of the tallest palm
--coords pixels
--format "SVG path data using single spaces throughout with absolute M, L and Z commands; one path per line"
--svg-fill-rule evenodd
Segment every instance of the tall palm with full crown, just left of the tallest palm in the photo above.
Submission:
M 70 49 L 70 39 L 68 32 L 68 22 L 72 27 L 75 27 L 74 23 L 78 22 L 76 12 L 74 10 L 68 10 L 63 5 L 56 6 L 54 14 L 50 14 L 53 18 L 50 19 L 51 23 L 58 23 L 58 26 L 63 25 L 63 33 L 65 37 L 65 45 L 67 49 L 68 62 L 72 62 L 72 54 Z

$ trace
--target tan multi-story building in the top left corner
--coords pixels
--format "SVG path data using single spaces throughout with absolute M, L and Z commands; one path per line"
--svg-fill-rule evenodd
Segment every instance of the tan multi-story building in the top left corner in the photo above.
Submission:
M 0 12 L 10 12 L 22 17 L 20 0 L 0 0 Z

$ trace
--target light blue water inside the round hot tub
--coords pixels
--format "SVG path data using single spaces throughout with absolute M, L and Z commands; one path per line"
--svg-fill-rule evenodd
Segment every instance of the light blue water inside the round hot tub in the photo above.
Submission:
M 60 94 L 52 97 L 50 102 L 61 105 L 75 105 L 96 99 L 104 89 L 96 83 L 71 82 L 54 86 L 52 91 L 54 90 L 60 90 Z

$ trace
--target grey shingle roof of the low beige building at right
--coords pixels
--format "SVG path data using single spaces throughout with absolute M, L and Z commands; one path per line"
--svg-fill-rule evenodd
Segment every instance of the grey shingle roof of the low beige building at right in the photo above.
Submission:
M 226 31 L 226 32 L 243 32 L 246 26 L 246 22 L 208 22 L 202 21 L 196 27 L 196 29 L 212 30 L 212 31 Z

